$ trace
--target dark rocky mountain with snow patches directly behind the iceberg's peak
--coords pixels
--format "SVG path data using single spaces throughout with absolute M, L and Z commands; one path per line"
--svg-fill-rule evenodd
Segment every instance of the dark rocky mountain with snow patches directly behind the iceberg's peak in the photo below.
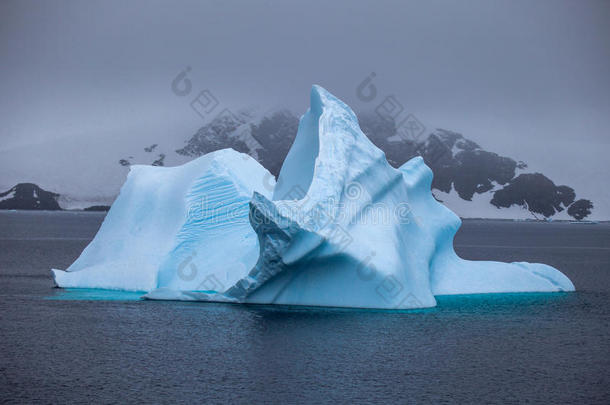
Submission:
M 542 173 L 528 173 L 525 162 L 486 151 L 456 132 L 436 129 L 409 137 L 375 113 L 360 114 L 359 123 L 394 167 L 422 156 L 434 172 L 433 193 L 462 217 L 582 219 L 593 208 L 589 200 L 576 200 L 573 188 L 555 185 Z M 297 126 L 298 118 L 286 110 L 257 119 L 224 115 L 175 152 L 197 157 L 230 147 L 248 153 L 277 176 Z

